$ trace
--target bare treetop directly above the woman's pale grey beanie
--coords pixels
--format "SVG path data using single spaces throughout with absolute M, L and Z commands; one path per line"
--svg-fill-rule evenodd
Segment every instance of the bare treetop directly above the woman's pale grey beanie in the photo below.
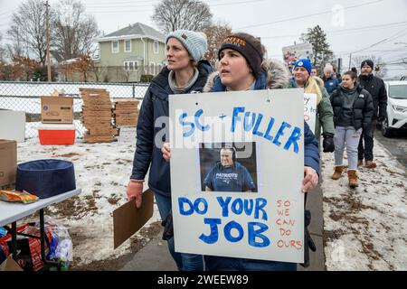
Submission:
M 209 5 L 195 0 L 163 0 L 154 6 L 153 22 L 163 33 L 178 29 L 204 31 L 212 23 Z

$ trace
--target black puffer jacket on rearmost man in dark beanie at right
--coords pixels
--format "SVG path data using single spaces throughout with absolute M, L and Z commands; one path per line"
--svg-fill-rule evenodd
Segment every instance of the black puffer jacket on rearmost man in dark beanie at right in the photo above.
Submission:
M 379 120 L 383 120 L 386 117 L 387 108 L 387 92 L 382 79 L 375 77 L 373 74 L 360 75 L 359 85 L 366 89 L 373 99 L 374 114 L 372 119 L 378 117 Z M 379 108 L 379 112 L 377 112 Z

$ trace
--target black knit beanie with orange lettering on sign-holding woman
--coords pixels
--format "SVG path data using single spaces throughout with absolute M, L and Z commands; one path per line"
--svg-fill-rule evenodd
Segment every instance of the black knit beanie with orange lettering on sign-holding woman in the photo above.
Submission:
M 263 61 L 260 43 L 252 42 L 243 33 L 227 35 L 223 39 L 221 49 L 218 51 L 219 60 L 221 60 L 221 51 L 226 48 L 240 52 L 251 67 L 254 77 L 257 79 L 260 76 L 261 62 Z

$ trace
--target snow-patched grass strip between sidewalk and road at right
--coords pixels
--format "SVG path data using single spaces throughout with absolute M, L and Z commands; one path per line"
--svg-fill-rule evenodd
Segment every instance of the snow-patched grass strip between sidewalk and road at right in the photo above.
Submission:
M 351 190 L 346 174 L 330 178 L 334 154 L 321 156 L 327 270 L 407 270 L 405 168 L 375 141 L 377 168 L 359 168 Z

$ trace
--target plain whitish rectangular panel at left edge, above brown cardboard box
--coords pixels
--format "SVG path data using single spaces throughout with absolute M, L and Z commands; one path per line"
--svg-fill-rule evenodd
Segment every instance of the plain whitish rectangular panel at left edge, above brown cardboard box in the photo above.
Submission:
M 0 138 L 24 143 L 25 112 L 0 109 Z

